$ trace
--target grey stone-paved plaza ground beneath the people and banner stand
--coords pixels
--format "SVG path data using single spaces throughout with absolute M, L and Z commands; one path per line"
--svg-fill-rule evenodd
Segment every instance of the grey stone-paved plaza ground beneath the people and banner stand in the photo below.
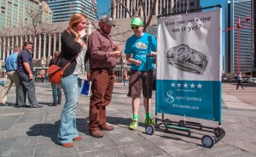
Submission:
M 2 90 L 3 87 L 0 87 Z M 10 106 L 0 106 L 0 156 L 34 157 L 143 157 L 143 156 L 189 156 L 189 157 L 251 157 L 256 156 L 256 87 L 245 85 L 245 90 L 236 90 L 236 84 L 223 84 L 222 126 L 225 137 L 212 149 L 201 145 L 204 132 L 193 131 L 193 137 L 181 136 L 158 129 L 154 135 L 145 133 L 143 125 L 143 105 L 140 107 L 139 127 L 130 131 L 131 98 L 127 98 L 128 87 L 116 83 L 113 101 L 107 108 L 108 123 L 114 125 L 112 132 L 104 132 L 104 137 L 90 137 L 88 132 L 89 99 L 82 95 L 77 109 L 77 124 L 82 141 L 74 142 L 73 148 L 63 148 L 56 144 L 60 124 L 62 104 L 52 103 L 51 88 L 38 84 L 36 95 L 43 109 L 15 107 L 15 87 L 9 92 Z M 152 115 L 154 115 L 154 98 Z M 158 115 L 161 116 L 160 114 Z M 165 115 L 170 120 L 183 120 L 183 117 Z M 217 122 L 186 118 L 205 126 L 218 126 Z M 213 135 L 212 135 L 213 136 Z

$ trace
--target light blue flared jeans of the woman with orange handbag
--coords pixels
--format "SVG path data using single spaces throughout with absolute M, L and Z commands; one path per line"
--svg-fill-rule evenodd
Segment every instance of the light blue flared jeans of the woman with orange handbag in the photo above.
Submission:
M 73 143 L 73 138 L 79 137 L 75 112 L 79 101 L 79 88 L 82 87 L 82 84 L 79 78 L 74 75 L 62 78 L 61 84 L 66 102 L 62 109 L 57 141 L 60 144 Z

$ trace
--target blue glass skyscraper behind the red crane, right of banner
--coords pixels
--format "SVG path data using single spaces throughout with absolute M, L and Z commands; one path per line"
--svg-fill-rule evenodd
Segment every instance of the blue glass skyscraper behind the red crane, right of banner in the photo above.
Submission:
M 251 0 L 232 0 L 228 2 L 227 27 L 239 25 L 240 32 L 235 28 L 226 31 L 225 71 L 236 73 L 251 71 L 253 68 L 252 53 L 252 15 Z M 240 43 L 240 44 L 239 44 Z

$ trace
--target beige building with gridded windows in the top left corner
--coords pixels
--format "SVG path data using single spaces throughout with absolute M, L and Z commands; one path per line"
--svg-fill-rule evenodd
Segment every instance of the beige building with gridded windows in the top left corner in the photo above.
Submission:
M 51 23 L 52 12 L 42 0 L 1 0 L 0 29 Z

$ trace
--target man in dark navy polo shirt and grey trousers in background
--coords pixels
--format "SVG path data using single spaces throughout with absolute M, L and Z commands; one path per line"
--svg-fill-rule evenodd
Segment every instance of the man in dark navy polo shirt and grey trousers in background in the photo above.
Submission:
M 42 108 L 38 104 L 33 77 L 32 42 L 24 42 L 23 50 L 18 54 L 18 76 L 20 86 L 18 90 L 18 107 Z M 26 105 L 26 95 L 29 105 Z

